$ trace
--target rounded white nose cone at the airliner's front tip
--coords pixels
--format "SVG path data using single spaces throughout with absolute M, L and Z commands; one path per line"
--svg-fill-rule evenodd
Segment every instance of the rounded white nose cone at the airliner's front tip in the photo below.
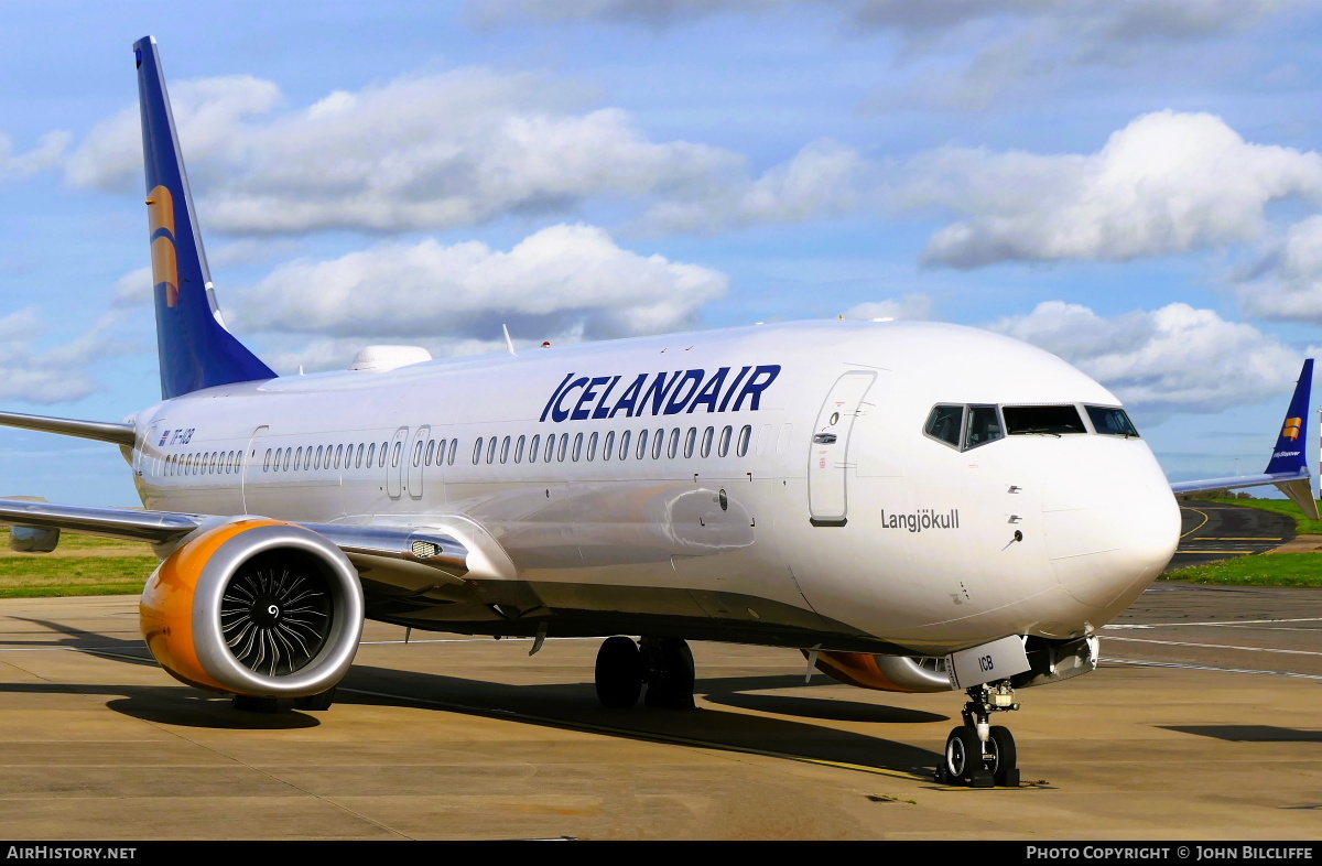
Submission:
M 1042 521 L 1051 569 L 1066 592 L 1110 619 L 1170 562 L 1179 506 L 1147 446 L 1137 439 L 1080 438 L 1068 471 L 1046 487 Z

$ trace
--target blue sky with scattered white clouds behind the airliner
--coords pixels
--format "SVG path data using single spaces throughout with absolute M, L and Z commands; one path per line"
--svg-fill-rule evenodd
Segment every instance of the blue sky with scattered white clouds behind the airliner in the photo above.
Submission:
M 1174 479 L 1257 472 L 1322 346 L 1314 0 L 0 5 L 0 406 L 157 399 L 130 45 L 282 373 L 806 317 L 988 327 Z M 0 431 L 0 494 L 134 504 Z

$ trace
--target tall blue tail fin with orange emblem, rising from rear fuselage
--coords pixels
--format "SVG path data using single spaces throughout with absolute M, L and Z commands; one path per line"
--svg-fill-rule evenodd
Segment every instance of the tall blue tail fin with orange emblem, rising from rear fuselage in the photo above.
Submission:
M 215 304 L 156 40 L 148 36 L 134 42 L 134 58 L 143 115 L 161 397 L 275 378 L 271 368 L 225 328 Z

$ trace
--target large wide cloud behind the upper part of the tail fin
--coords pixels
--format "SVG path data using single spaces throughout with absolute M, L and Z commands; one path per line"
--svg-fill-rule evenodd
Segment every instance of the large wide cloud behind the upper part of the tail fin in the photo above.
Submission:
M 292 111 L 276 111 L 279 89 L 251 77 L 173 94 L 204 222 L 226 231 L 443 229 L 596 197 L 703 200 L 752 182 L 738 153 L 650 141 L 627 112 L 587 102 L 574 83 L 480 67 Z M 139 135 L 136 108 L 99 124 L 70 157 L 70 182 L 140 182 Z

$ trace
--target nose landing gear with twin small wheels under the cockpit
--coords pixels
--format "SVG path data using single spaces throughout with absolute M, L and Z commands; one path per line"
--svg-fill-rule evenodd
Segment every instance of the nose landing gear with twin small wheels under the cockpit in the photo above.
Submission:
M 936 768 L 936 781 L 970 788 L 1019 787 L 1019 755 L 1014 734 L 992 725 L 993 713 L 1018 710 L 1007 680 L 973 686 L 964 705 L 964 725 L 945 739 L 945 755 Z

